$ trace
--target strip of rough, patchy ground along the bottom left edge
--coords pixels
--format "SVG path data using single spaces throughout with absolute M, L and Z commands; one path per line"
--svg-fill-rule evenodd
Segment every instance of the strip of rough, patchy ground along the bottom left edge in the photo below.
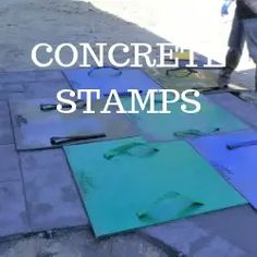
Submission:
M 0 244 L 1 257 L 172 257 L 140 236 L 97 241 L 88 229 L 63 230 L 19 237 Z

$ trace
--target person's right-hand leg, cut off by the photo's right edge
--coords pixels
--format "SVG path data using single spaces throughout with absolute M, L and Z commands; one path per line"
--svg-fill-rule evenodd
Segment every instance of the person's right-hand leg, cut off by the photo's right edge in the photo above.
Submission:
M 254 60 L 255 69 L 255 90 L 257 91 L 257 19 L 244 20 L 244 30 L 249 57 Z

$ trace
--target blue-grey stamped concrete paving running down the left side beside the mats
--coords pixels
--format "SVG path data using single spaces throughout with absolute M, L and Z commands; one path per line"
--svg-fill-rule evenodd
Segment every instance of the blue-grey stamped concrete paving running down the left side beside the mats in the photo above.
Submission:
M 63 151 L 17 152 L 10 120 L 10 98 L 52 97 L 57 90 L 69 88 L 62 73 L 3 73 L 0 88 L 5 97 L 0 101 L 0 236 L 86 225 Z

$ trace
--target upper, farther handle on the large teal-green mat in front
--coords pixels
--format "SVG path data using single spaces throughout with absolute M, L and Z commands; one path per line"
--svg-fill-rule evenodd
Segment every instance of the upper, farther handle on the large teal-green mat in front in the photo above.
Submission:
M 155 148 L 155 147 L 150 147 L 147 144 L 144 143 L 139 143 L 139 142 L 133 142 L 113 149 L 110 149 L 109 151 L 107 151 L 103 157 L 107 160 L 111 160 L 112 158 L 114 158 L 115 156 L 120 156 L 120 155 L 130 155 L 133 156 L 132 154 L 130 154 L 130 150 L 135 148 L 135 147 L 146 147 L 147 148 L 147 152 L 145 154 L 145 156 L 148 156 L 150 154 L 157 154 L 159 151 L 159 149 Z

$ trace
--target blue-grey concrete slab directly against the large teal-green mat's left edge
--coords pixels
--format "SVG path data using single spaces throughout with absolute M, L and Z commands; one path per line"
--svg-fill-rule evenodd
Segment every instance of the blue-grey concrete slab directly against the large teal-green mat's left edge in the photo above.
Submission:
M 87 225 L 63 151 L 26 151 L 20 158 L 32 230 Z

